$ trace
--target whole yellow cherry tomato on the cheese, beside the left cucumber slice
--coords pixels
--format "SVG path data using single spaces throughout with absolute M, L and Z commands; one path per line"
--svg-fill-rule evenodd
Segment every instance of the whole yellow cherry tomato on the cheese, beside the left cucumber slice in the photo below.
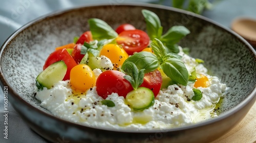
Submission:
M 86 64 L 78 64 L 70 71 L 70 84 L 75 89 L 87 91 L 95 86 L 95 82 L 95 75 Z

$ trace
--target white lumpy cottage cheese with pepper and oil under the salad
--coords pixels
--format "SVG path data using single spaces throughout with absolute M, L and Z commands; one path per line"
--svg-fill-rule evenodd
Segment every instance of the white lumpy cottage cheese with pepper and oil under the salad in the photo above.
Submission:
M 37 91 L 36 98 L 41 101 L 42 107 L 60 118 L 82 125 L 112 129 L 168 129 L 217 116 L 213 110 L 224 96 L 226 85 L 218 77 L 207 75 L 207 69 L 182 50 L 179 54 L 189 73 L 196 69 L 198 74 L 209 79 L 208 87 L 198 87 L 203 93 L 200 101 L 191 100 L 194 84 L 169 85 L 167 89 L 160 90 L 153 106 L 136 112 L 117 93 L 106 98 L 115 103 L 114 107 L 108 107 L 101 104 L 103 99 L 98 96 L 95 87 L 87 92 L 76 92 L 69 81 L 59 81 L 51 89 Z M 101 70 L 95 69 L 94 73 L 97 77 Z

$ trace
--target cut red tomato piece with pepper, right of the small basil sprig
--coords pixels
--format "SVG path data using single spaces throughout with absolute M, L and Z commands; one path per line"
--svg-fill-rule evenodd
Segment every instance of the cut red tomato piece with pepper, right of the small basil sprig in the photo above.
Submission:
M 163 80 L 160 71 L 154 70 L 144 75 L 143 83 L 140 86 L 151 89 L 156 97 L 160 91 L 162 82 Z

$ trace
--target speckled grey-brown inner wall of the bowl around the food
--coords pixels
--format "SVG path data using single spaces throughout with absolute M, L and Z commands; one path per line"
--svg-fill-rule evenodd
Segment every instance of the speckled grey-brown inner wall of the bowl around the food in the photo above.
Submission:
M 209 73 L 220 77 L 230 88 L 220 107 L 220 114 L 239 105 L 253 91 L 256 85 L 255 55 L 244 40 L 200 16 L 194 17 L 192 13 L 172 11 L 167 7 L 109 5 L 77 8 L 29 23 L 18 30 L 4 47 L 0 63 L 3 77 L 19 97 L 51 114 L 40 107 L 34 92 L 35 78 L 54 48 L 73 42 L 74 36 L 89 30 L 89 18 L 100 18 L 113 29 L 122 23 L 131 23 L 137 29 L 145 30 L 142 9 L 151 10 L 159 16 L 164 32 L 175 25 L 183 25 L 190 30 L 180 45 L 189 47 L 191 56 L 203 59 Z

